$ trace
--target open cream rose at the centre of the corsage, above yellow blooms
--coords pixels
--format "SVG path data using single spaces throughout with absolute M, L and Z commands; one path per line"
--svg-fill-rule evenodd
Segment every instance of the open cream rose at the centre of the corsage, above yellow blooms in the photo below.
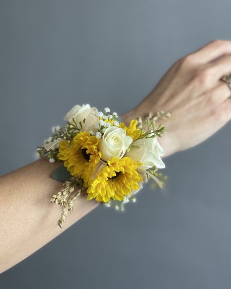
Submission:
M 112 157 L 121 159 L 133 139 L 119 127 L 108 127 L 99 141 L 98 150 L 103 161 L 110 161 Z

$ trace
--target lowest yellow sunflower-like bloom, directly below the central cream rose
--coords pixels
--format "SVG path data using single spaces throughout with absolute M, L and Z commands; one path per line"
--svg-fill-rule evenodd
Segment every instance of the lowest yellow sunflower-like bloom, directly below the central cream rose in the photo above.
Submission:
M 96 199 L 98 202 L 108 202 L 111 198 L 122 201 L 124 196 L 132 190 L 139 188 L 142 180 L 136 171 L 136 166 L 141 165 L 129 157 L 122 159 L 112 158 L 98 173 L 95 180 L 87 189 L 88 200 Z

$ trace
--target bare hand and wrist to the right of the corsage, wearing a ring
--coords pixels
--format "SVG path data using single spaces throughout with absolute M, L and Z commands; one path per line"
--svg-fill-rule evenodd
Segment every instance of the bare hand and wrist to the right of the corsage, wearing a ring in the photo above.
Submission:
M 171 112 L 160 120 L 167 132 L 160 140 L 165 156 L 197 145 L 231 119 L 231 90 L 221 78 L 231 73 L 231 41 L 212 41 L 178 60 L 127 122 L 150 111 Z

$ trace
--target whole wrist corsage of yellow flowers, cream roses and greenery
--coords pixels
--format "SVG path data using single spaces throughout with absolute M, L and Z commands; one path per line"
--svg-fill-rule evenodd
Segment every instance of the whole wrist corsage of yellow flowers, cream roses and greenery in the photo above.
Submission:
M 52 173 L 54 179 L 63 182 L 51 198 L 62 207 L 59 227 L 83 190 L 87 200 L 95 199 L 106 206 L 116 204 L 116 208 L 119 201 L 123 209 L 129 200 L 135 201 L 135 193 L 150 177 L 162 187 L 157 170 L 165 167 L 161 160 L 164 152 L 157 137 L 165 128 L 161 124 L 156 128 L 155 122 L 166 117 L 169 114 L 150 113 L 126 126 L 116 112 L 110 114 L 108 107 L 101 112 L 89 104 L 76 105 L 67 113 L 67 125 L 54 127 L 53 135 L 37 150 L 51 163 L 63 162 Z

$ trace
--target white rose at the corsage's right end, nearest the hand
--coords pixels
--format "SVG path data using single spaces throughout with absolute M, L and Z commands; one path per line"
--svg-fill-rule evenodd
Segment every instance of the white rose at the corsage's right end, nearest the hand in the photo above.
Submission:
M 164 150 L 158 143 L 157 138 L 144 138 L 142 139 L 142 143 L 145 144 L 145 159 L 142 166 L 137 166 L 137 171 L 144 173 L 146 169 L 153 166 L 164 168 L 165 164 L 161 160 L 161 157 L 164 155 Z

